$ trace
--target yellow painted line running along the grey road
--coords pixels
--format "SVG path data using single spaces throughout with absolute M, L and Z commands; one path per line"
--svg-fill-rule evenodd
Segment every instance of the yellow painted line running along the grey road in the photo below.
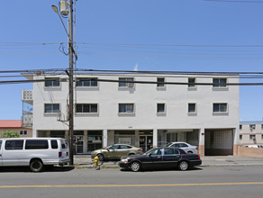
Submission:
M 92 188 L 92 187 L 158 187 L 158 186 L 204 186 L 204 185 L 253 185 L 263 182 L 200 183 L 200 184 L 42 184 L 42 185 L 0 185 L 0 188 Z

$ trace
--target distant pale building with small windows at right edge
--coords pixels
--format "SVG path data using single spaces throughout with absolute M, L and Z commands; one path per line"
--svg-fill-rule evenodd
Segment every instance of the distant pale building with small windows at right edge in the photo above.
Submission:
M 240 121 L 240 145 L 263 144 L 263 121 Z

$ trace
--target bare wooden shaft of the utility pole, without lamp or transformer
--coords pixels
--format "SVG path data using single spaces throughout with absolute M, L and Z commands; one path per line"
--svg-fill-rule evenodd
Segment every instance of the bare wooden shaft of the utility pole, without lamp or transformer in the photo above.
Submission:
M 73 136 L 74 136 L 74 92 L 73 92 L 73 0 L 69 0 L 69 18 L 68 18 L 68 53 L 69 53 L 69 111 L 68 111 L 68 133 L 69 133 L 69 159 L 70 165 L 74 165 L 73 157 Z

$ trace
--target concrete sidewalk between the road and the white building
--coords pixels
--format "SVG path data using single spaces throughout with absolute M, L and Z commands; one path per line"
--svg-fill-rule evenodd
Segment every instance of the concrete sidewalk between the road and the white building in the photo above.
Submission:
M 263 158 L 257 157 L 205 156 L 201 159 L 201 166 L 263 166 Z M 94 162 L 90 155 L 75 155 L 74 165 L 76 168 L 91 168 Z M 101 168 L 119 168 L 118 160 L 104 161 Z

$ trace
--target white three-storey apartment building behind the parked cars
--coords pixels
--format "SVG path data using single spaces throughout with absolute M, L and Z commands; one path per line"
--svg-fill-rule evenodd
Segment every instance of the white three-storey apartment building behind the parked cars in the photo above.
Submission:
M 62 82 L 68 76 L 38 74 L 27 78 L 51 80 L 33 84 L 33 136 L 68 138 L 68 81 Z M 89 153 L 114 143 L 148 150 L 171 141 L 186 141 L 198 146 L 203 155 L 236 155 L 239 86 L 225 85 L 228 83 L 239 83 L 238 76 L 77 74 L 75 152 Z

